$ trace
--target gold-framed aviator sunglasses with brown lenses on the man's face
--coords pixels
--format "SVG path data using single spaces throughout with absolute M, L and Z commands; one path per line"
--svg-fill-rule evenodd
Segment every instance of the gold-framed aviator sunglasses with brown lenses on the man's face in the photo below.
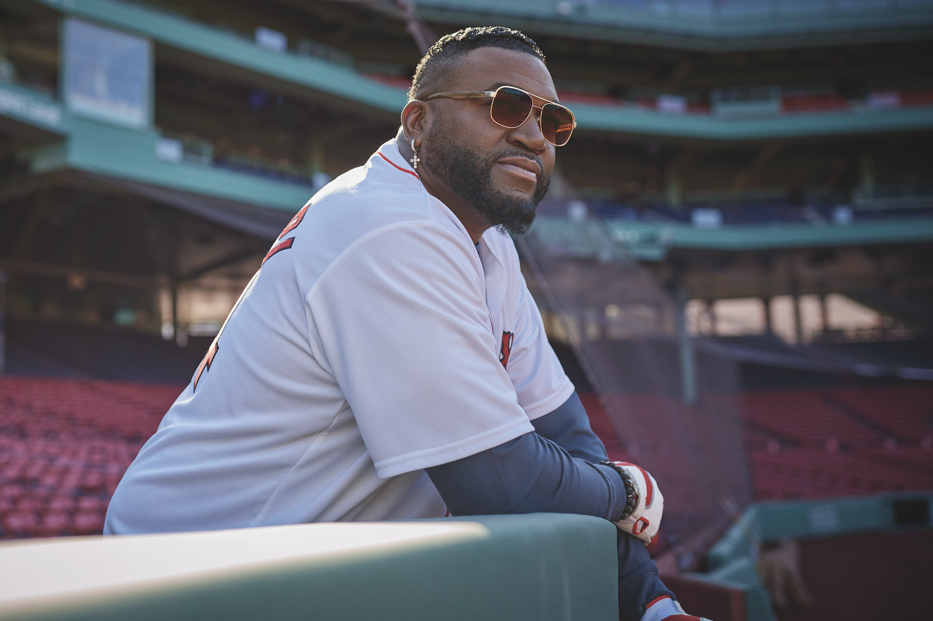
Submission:
M 476 90 L 466 92 L 439 92 L 428 95 L 421 101 L 426 102 L 435 97 L 450 97 L 451 99 L 471 99 L 474 97 L 492 97 L 493 105 L 489 109 L 489 116 L 494 122 L 509 130 L 521 127 L 532 110 L 537 108 L 541 114 L 537 116 L 537 124 L 541 128 L 544 139 L 551 145 L 564 146 L 570 140 L 570 134 L 577 127 L 574 113 L 570 108 L 554 104 L 548 100 L 544 105 L 535 105 L 533 95 L 515 87 L 499 87 L 496 90 Z M 540 99 L 540 98 L 539 98 Z

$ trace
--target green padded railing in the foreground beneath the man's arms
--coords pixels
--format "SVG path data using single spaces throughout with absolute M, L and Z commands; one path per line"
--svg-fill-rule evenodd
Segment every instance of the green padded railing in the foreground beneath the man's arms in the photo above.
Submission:
M 564 514 L 0 545 L 0 619 L 617 621 L 616 527 Z

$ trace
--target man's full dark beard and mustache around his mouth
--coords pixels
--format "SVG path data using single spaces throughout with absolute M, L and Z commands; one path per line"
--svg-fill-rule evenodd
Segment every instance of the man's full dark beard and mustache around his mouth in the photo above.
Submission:
M 528 232 L 535 221 L 537 204 L 548 193 L 550 185 L 550 174 L 544 174 L 541 159 L 510 146 L 496 153 L 471 151 L 464 145 L 451 142 L 440 125 L 436 123 L 427 134 L 431 152 L 423 166 L 436 174 L 503 235 L 523 235 Z M 508 157 L 533 159 L 540 167 L 541 174 L 538 175 L 535 192 L 530 198 L 514 199 L 494 187 L 493 166 L 497 160 Z

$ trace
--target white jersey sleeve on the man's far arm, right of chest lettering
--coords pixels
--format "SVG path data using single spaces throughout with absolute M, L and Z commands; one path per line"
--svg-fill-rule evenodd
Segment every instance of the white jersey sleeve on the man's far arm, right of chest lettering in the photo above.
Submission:
M 530 420 L 561 407 L 574 392 L 544 331 L 541 312 L 525 284 L 516 259 L 519 280 L 515 337 L 508 359 L 508 377 L 515 386 L 519 403 Z

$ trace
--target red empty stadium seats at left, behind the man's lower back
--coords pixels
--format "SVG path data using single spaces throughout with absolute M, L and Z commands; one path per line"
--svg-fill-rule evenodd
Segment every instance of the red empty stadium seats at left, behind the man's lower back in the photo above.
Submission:
M 174 384 L 0 376 L 0 537 L 95 534 Z

